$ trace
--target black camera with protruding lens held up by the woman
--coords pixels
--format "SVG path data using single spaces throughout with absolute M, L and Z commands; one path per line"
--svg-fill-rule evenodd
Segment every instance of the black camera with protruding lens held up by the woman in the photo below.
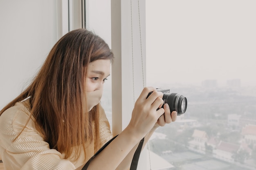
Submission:
M 171 112 L 176 111 L 178 116 L 186 112 L 186 106 L 187 106 L 186 97 L 178 93 L 170 93 L 170 89 L 157 88 L 157 91 L 161 91 L 162 93 L 164 93 L 164 96 L 162 99 L 164 100 L 164 104 L 168 103 Z M 148 96 L 151 93 L 152 92 L 148 93 Z M 164 104 L 162 108 L 164 108 Z

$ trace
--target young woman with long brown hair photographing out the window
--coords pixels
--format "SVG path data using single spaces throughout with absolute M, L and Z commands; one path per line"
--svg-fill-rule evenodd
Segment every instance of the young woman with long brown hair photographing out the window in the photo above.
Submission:
M 86 29 L 70 31 L 53 46 L 32 83 L 0 111 L 5 170 L 81 170 L 112 139 L 99 104 L 112 60 L 106 42 Z M 129 169 L 139 141 L 145 137 L 145 144 L 177 117 L 168 104 L 161 108 L 162 96 L 144 88 L 128 126 L 88 170 Z

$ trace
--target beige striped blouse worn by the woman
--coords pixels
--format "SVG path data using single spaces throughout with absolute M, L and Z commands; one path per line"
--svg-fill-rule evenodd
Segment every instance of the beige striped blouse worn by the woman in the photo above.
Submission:
M 94 155 L 94 142 L 86 149 L 86 155 L 72 161 L 63 159 L 63 155 L 49 144 L 36 130 L 34 121 L 29 120 L 27 127 L 21 132 L 29 118 L 29 110 L 22 104 L 16 103 L 0 116 L 0 155 L 5 170 L 74 170 Z M 101 108 L 100 140 L 102 146 L 112 138 L 110 125 L 106 114 Z M 85 158 L 85 161 L 84 161 Z

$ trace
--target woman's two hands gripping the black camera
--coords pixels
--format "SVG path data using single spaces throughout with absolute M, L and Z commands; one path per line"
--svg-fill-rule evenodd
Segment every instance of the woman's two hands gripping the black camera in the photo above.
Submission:
M 151 93 L 148 96 L 148 93 Z M 148 98 L 147 98 L 148 96 Z M 168 105 L 161 108 L 164 104 L 163 93 L 156 91 L 153 87 L 145 87 L 135 102 L 132 111 L 132 118 L 127 128 L 132 133 L 142 139 L 155 125 L 164 126 L 166 123 L 175 121 L 177 113 L 170 113 Z M 157 110 L 157 108 L 159 108 Z

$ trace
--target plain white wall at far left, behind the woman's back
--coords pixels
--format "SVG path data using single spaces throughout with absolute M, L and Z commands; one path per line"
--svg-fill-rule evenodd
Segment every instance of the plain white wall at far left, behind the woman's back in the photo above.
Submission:
M 56 0 L 0 1 L 0 108 L 29 84 L 57 41 Z

